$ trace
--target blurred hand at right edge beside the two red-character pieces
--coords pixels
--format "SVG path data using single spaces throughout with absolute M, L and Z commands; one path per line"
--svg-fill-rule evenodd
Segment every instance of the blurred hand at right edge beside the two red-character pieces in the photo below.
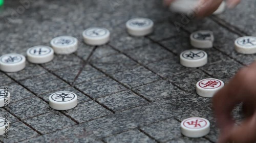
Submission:
M 253 143 L 256 141 L 256 62 L 238 73 L 213 98 L 213 106 L 221 135 L 218 143 Z M 245 119 L 238 126 L 232 109 L 243 103 Z

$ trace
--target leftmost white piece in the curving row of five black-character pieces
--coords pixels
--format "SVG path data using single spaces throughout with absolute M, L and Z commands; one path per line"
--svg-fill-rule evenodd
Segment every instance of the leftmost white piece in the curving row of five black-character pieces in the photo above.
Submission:
M 0 70 L 4 72 L 17 72 L 26 66 L 24 55 L 17 53 L 4 54 L 0 57 Z

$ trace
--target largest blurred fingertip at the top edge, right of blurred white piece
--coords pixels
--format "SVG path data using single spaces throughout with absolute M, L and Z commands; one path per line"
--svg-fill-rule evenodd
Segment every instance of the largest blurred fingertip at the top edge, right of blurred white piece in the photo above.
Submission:
M 219 8 L 222 1 L 223 0 L 200 0 L 197 8 L 199 10 L 197 17 L 201 18 L 214 13 Z

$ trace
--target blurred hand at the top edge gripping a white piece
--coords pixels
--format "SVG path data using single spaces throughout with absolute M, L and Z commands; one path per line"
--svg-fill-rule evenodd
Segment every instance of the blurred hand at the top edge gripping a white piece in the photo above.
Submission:
M 164 0 L 165 6 L 169 6 L 173 1 L 179 0 Z M 187 0 L 191 1 L 191 0 Z M 196 13 L 197 17 L 202 18 L 214 13 L 221 5 L 223 0 L 199 0 L 199 11 Z M 234 8 L 240 3 L 240 0 L 227 0 L 228 8 Z

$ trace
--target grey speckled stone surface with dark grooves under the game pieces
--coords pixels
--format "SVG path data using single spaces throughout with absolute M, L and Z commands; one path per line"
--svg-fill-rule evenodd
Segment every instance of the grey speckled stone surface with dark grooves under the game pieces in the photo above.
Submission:
M 170 13 L 159 0 L 6 1 L 0 15 L 0 53 L 26 54 L 29 47 L 50 45 L 57 36 L 79 39 L 78 51 L 55 55 L 42 65 L 27 63 L 17 73 L 0 72 L 0 87 L 11 92 L 9 139 L 0 142 L 215 142 L 219 130 L 211 99 L 199 97 L 195 84 L 207 77 L 227 82 L 251 63 L 255 54 L 234 51 L 234 40 L 256 36 L 256 1 L 242 1 L 219 16 L 184 19 Z M 133 17 L 154 20 L 153 34 L 135 38 L 125 32 Z M 180 29 L 175 27 L 183 23 Z M 111 41 L 92 47 L 81 33 L 100 26 L 111 31 Z M 179 53 L 192 48 L 189 35 L 214 32 L 214 48 L 206 49 L 208 63 L 201 68 L 179 64 Z M 78 95 L 79 104 L 67 111 L 49 107 L 51 93 L 66 90 Z M 234 117 L 241 120 L 240 108 Z M 210 133 L 187 138 L 180 122 L 206 118 Z

